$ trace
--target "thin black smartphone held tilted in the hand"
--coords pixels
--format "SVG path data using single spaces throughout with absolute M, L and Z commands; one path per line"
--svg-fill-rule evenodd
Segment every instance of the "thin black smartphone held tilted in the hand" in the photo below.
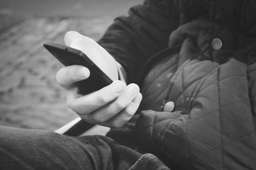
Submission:
M 60 60 L 64 66 L 81 65 L 90 70 L 90 76 L 86 80 L 77 81 L 75 85 L 80 94 L 90 94 L 95 92 L 113 81 L 109 78 L 92 60 L 83 52 L 69 46 L 60 45 L 52 41 L 46 41 L 44 47 L 52 53 L 56 59 Z

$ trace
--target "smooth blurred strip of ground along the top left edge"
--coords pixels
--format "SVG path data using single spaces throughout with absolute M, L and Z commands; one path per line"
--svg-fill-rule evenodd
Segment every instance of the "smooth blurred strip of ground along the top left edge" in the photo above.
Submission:
M 91 17 L 126 15 L 128 9 L 143 0 L 0 0 L 0 11 L 39 17 Z

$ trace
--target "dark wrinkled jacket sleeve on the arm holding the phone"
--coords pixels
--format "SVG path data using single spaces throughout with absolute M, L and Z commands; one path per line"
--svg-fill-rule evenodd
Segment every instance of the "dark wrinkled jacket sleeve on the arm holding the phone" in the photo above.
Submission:
M 143 64 L 154 53 L 168 46 L 170 33 L 179 25 L 174 1 L 145 0 L 118 17 L 99 40 L 124 67 L 128 82 L 134 82 Z

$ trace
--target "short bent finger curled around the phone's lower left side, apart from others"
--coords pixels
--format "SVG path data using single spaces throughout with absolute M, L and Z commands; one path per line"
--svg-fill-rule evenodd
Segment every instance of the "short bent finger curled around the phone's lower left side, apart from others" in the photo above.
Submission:
M 90 76 L 90 71 L 84 66 L 67 66 L 62 67 L 56 74 L 56 81 L 59 85 L 67 88 L 76 81 L 85 80 Z

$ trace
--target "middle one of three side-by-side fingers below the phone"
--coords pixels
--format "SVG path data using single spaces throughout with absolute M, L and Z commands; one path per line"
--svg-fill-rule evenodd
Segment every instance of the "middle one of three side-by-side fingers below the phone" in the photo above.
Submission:
M 106 122 L 110 118 L 115 117 L 120 111 L 124 110 L 140 92 L 138 85 L 132 83 L 127 86 L 127 89 L 124 90 L 124 93 L 121 94 L 115 101 L 112 103 L 99 108 L 98 110 L 90 113 L 90 117 L 97 122 Z

